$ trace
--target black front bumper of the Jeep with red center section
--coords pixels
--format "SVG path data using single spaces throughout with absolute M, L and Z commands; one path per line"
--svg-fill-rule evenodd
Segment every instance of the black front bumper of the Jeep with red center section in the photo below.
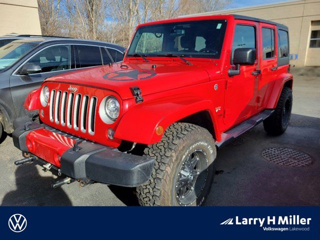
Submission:
M 153 158 L 85 141 L 27 117 L 16 119 L 13 126 L 17 148 L 50 162 L 71 178 L 132 187 L 151 176 Z

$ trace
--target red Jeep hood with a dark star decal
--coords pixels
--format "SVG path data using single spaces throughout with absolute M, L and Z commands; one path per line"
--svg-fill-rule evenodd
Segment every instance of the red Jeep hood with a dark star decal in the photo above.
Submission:
M 156 67 L 152 68 L 152 64 Z M 211 67 L 211 66 L 210 66 Z M 106 88 L 122 99 L 132 98 L 130 87 L 138 86 L 142 96 L 178 87 L 209 81 L 208 73 L 184 62 L 116 63 L 65 73 L 46 79 L 69 84 Z

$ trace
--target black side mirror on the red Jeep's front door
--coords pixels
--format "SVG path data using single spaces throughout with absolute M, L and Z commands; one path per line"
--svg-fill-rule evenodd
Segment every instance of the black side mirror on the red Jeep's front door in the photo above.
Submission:
M 253 65 L 255 61 L 255 48 L 236 48 L 233 53 L 233 64 L 235 69 L 229 69 L 228 75 L 240 74 L 240 65 Z

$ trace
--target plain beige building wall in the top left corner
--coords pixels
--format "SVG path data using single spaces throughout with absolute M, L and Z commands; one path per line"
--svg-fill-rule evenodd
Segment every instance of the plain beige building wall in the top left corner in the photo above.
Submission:
M 0 36 L 41 34 L 36 0 L 0 0 Z

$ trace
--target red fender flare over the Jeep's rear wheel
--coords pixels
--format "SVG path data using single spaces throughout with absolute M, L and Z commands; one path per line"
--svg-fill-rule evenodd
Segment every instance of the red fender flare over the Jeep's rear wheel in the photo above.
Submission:
M 266 104 L 265 108 L 268 109 L 274 109 L 276 107 L 276 104 L 279 100 L 279 97 L 281 95 L 281 91 L 283 89 L 283 86 L 285 82 L 293 80 L 293 76 L 290 73 L 281 73 L 277 76 L 277 78 L 274 81 L 274 85 L 271 91 L 271 95 L 269 97 L 268 103 Z

